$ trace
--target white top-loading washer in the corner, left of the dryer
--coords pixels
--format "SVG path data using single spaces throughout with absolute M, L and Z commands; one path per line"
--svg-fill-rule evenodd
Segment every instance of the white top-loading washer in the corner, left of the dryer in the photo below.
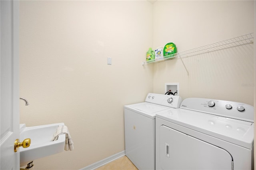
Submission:
M 145 102 L 124 106 L 125 154 L 139 170 L 155 169 L 155 115 L 179 108 L 180 96 L 149 93 Z

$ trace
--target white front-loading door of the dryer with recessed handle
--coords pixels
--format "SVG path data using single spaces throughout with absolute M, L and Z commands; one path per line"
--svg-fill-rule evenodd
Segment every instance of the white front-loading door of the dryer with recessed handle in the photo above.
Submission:
M 160 166 L 163 170 L 232 170 L 232 156 L 224 149 L 162 125 Z

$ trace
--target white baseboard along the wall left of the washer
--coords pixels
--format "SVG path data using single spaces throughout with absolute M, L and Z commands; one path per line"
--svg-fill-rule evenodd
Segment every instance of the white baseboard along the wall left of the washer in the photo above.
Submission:
M 99 168 L 100 166 L 103 166 L 103 165 L 105 165 L 105 164 L 107 164 L 109 162 L 112 162 L 113 160 L 116 160 L 116 159 L 118 159 L 118 158 L 120 158 L 120 157 L 122 157 L 124 155 L 125 155 L 125 151 L 123 150 L 122 152 L 119 152 L 119 153 L 114 154 L 114 155 L 112 155 L 112 156 L 110 156 L 108 158 L 105 158 L 103 160 L 95 162 L 94 164 L 86 166 L 86 167 L 84 167 L 84 168 L 82 168 L 80 170 L 94 170 L 94 169 Z

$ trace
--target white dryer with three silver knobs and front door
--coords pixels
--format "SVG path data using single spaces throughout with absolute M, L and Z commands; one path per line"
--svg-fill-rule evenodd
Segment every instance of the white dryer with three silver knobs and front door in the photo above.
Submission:
M 180 109 L 156 114 L 157 170 L 254 168 L 254 108 L 187 98 Z

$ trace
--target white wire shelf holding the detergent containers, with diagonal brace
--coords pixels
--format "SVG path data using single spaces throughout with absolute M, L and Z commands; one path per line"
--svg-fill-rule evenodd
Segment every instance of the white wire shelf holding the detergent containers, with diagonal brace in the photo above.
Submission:
M 212 52 L 212 51 L 216 51 L 216 50 L 222 50 L 222 49 L 225 49 L 225 48 L 231 48 L 231 47 L 234 47 L 234 46 L 250 44 L 250 43 L 253 43 L 253 39 L 254 39 L 254 33 L 252 32 L 252 33 L 245 34 L 245 35 L 242 35 L 242 36 L 238 36 L 238 37 L 235 37 L 235 38 L 230 38 L 228 40 L 223 40 L 223 41 L 220 41 L 220 42 L 215 42 L 213 44 L 208 44 L 208 45 L 205 45 L 205 46 L 194 48 L 194 49 L 191 49 L 191 50 L 186 50 L 186 51 L 183 51 L 183 52 L 177 52 L 175 54 L 164 56 L 162 59 L 158 59 L 158 60 L 154 59 L 154 60 L 144 61 L 144 62 L 142 62 L 142 65 L 155 63 L 155 62 L 161 62 L 161 61 L 164 61 L 164 60 L 167 60 L 167 59 L 172 59 L 172 58 L 175 58 L 175 57 L 179 57 L 182 60 L 181 57 L 189 57 L 189 56 L 204 54 L 204 53 Z M 183 61 L 182 61 L 182 64 L 184 65 Z M 184 65 L 184 67 L 186 69 L 185 65 Z M 187 69 L 186 69 L 186 71 L 188 73 Z

